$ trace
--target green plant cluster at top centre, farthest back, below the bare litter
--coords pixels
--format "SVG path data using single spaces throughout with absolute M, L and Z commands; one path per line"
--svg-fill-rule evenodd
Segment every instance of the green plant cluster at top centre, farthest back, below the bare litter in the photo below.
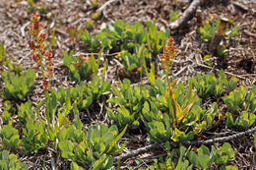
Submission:
M 79 39 L 92 52 L 103 49 L 105 53 L 117 53 L 116 58 L 123 61 L 123 72 L 128 76 L 130 72 L 144 68 L 151 57 L 157 57 L 169 32 L 159 31 L 157 26 L 150 22 L 146 23 L 145 28 L 140 23 L 130 25 L 124 21 L 116 21 L 96 35 L 91 35 L 87 29 L 79 30 L 78 34 Z M 71 72 L 74 71 L 68 64 L 66 66 Z

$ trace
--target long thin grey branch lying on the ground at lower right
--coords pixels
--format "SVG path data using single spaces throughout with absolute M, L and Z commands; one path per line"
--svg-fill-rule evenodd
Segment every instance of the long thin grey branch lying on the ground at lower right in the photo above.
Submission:
M 171 146 L 177 147 L 179 145 L 179 143 L 189 146 L 189 145 L 201 145 L 201 144 L 209 145 L 209 144 L 213 144 L 215 142 L 228 142 L 231 140 L 235 140 L 237 138 L 241 138 L 242 136 L 253 134 L 255 132 L 256 132 L 256 126 L 254 128 L 251 128 L 251 129 L 245 131 L 245 132 L 236 133 L 234 135 L 227 136 L 227 137 L 215 138 L 215 139 L 206 140 L 206 141 L 171 142 Z M 151 150 L 156 150 L 156 149 L 160 148 L 160 145 L 162 145 L 162 144 L 163 143 L 161 143 L 161 142 L 155 142 L 155 143 L 147 145 L 145 147 L 138 148 L 137 150 L 133 150 L 133 151 L 121 154 L 114 158 L 114 162 L 117 162 L 118 160 L 124 160 L 124 159 L 130 158 L 130 157 L 135 157 L 139 154 L 143 154 L 143 153 L 149 152 Z

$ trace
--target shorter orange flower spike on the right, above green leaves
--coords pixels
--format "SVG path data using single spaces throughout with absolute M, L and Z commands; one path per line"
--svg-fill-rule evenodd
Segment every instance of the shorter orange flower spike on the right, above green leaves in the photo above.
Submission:
M 160 56 L 160 62 L 161 62 L 162 68 L 165 71 L 165 75 L 167 79 L 168 93 L 171 92 L 171 87 L 173 88 L 175 86 L 175 82 L 173 82 L 173 85 L 170 85 L 169 78 L 168 78 L 168 73 L 169 73 L 169 69 L 172 66 L 172 61 L 177 55 L 177 47 L 175 47 L 174 44 L 175 44 L 174 39 L 171 36 L 169 36 L 169 38 L 167 39 L 166 45 L 163 47 L 163 54 Z

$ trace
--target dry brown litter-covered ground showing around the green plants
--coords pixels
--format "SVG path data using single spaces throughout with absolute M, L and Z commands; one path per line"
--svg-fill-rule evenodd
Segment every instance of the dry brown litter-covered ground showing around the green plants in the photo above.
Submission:
M 107 1 L 99 0 L 98 7 L 102 7 Z M 235 3 L 242 6 L 237 6 Z M 57 46 L 52 49 L 54 54 L 54 81 L 53 86 L 68 86 L 71 83 L 67 78 L 67 69 L 63 66 L 63 51 L 88 52 L 80 43 L 72 43 L 69 35 L 69 28 L 84 28 L 95 12 L 90 1 L 87 0 L 34 0 L 38 9 L 41 10 L 41 23 L 51 36 L 55 30 Z M 116 0 L 102 9 L 102 18 L 95 21 L 92 33 L 116 20 L 124 20 L 128 23 L 145 23 L 156 21 L 160 29 L 169 28 L 169 13 L 179 11 L 182 14 L 188 7 L 186 0 Z M 25 68 L 36 69 L 32 61 L 28 42 L 29 26 L 32 11 L 26 0 L 0 0 L 0 42 L 4 42 L 7 56 L 17 65 Z M 199 27 L 197 18 L 186 22 L 181 28 L 171 31 L 176 41 L 178 55 L 173 64 L 172 73 L 182 82 L 195 76 L 197 73 L 218 72 L 223 69 L 228 77 L 235 76 L 240 84 L 248 86 L 256 85 L 256 2 L 217 0 L 207 1 L 199 8 L 202 11 L 202 20 L 215 20 L 219 17 L 230 18 L 238 27 L 239 35 L 230 39 L 224 39 L 224 45 L 228 53 L 223 61 L 213 57 L 213 66 L 207 67 L 203 64 L 202 57 L 207 53 L 206 44 L 200 39 L 197 31 Z M 48 44 L 49 45 L 49 44 Z M 107 79 L 117 83 L 118 67 L 114 62 L 109 62 Z M 38 103 L 43 98 L 41 81 L 36 80 L 36 89 L 33 90 L 32 101 Z M 3 90 L 3 83 L 0 81 L 0 91 Z M 0 98 L 0 113 L 3 111 L 3 100 Z M 135 149 L 147 144 L 144 142 L 146 136 L 136 136 L 128 143 L 128 149 Z M 232 164 L 239 169 L 253 169 L 256 164 L 255 148 L 253 148 L 252 136 L 244 139 L 231 141 L 238 153 Z M 155 155 L 156 153 L 151 153 Z M 50 166 L 50 157 L 55 152 L 50 149 L 39 151 L 35 155 L 23 157 L 31 169 L 42 168 L 42 161 L 46 157 L 46 165 Z M 22 155 L 20 155 L 22 156 Z M 126 160 L 130 164 L 132 160 Z M 124 165 L 125 165 L 124 163 Z M 59 169 L 65 169 L 68 163 L 62 163 Z

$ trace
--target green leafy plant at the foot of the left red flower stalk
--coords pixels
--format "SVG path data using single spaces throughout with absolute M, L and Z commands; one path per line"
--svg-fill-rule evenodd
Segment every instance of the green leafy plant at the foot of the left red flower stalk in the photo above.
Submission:
M 21 121 L 22 145 L 25 152 L 36 153 L 40 148 L 46 145 L 56 149 L 58 146 L 58 135 L 60 129 L 70 124 L 66 117 L 74 105 L 64 105 L 63 110 L 59 109 L 56 91 L 50 89 L 51 95 L 45 93 L 45 99 L 38 103 L 36 108 L 32 107 L 29 101 L 18 107 L 18 117 Z M 43 119 L 39 114 L 39 109 L 45 105 Z M 75 114 L 75 118 L 77 114 Z M 50 142 L 50 143 L 49 143 Z

